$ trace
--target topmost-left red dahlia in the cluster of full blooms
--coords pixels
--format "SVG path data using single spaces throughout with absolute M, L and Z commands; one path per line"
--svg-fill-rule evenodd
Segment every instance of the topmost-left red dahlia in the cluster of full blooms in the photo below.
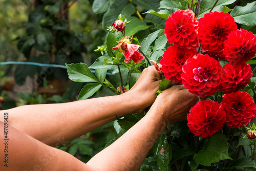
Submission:
M 197 37 L 197 24 L 193 11 L 178 9 L 166 20 L 164 34 L 169 44 L 174 44 L 176 47 L 198 48 L 200 45 Z

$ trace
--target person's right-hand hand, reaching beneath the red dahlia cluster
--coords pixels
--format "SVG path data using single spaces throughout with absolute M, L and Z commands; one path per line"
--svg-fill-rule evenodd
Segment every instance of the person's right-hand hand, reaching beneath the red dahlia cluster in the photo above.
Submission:
M 186 116 L 198 101 L 198 96 L 191 94 L 184 85 L 173 86 L 160 93 L 152 109 L 162 114 L 166 124 L 186 120 Z

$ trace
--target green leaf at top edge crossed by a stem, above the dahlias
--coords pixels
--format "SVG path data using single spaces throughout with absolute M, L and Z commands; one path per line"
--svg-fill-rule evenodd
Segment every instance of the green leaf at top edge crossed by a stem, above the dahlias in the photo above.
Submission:
M 236 0 L 219 0 L 212 11 L 221 12 L 224 9 L 224 6 L 232 4 L 235 1 Z M 214 6 L 215 2 L 216 1 L 212 1 L 212 0 L 201 1 L 200 9 L 199 9 L 199 18 L 204 16 L 205 13 L 208 13 L 211 7 Z

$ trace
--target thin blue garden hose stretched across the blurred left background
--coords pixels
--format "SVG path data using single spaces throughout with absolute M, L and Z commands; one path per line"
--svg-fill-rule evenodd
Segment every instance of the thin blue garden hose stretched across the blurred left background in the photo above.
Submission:
M 32 65 L 32 66 L 39 66 L 39 67 L 63 68 L 67 70 L 66 66 L 56 65 L 56 64 L 37 63 L 37 62 L 19 62 L 19 61 L 0 62 L 0 66 L 2 65 Z M 94 70 L 91 70 L 91 72 L 95 73 Z M 113 74 L 107 72 L 106 75 L 113 75 Z

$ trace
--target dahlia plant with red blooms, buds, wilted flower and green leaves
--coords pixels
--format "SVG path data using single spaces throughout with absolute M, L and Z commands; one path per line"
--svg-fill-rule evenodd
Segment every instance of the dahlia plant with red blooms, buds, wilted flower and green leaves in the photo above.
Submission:
M 101 87 L 125 93 L 152 64 L 164 75 L 157 94 L 175 81 L 199 97 L 187 121 L 166 127 L 140 170 L 256 169 L 256 36 L 246 30 L 256 25 L 256 2 L 225 7 L 233 2 L 163 0 L 164 10 L 145 13 L 165 19 L 164 28 L 150 32 L 145 27 L 150 34 L 142 41 L 137 28 L 126 31 L 127 20 L 131 18 L 132 24 L 134 17 L 119 15 L 108 27 L 105 44 L 95 50 L 102 56 L 92 66 L 67 65 L 70 79 L 93 82 L 84 86 L 78 99 L 89 98 Z M 109 81 L 106 73 L 116 82 Z M 141 117 L 117 118 L 117 134 L 121 136 Z

